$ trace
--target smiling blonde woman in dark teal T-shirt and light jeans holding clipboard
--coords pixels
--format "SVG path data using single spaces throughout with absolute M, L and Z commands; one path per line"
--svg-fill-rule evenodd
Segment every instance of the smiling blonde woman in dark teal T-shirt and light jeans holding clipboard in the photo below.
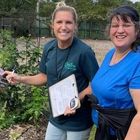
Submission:
M 92 49 L 75 37 L 77 14 L 73 7 L 59 3 L 52 15 L 55 39 L 44 47 L 40 62 L 40 73 L 35 76 L 20 76 L 11 72 L 6 77 L 12 84 L 17 82 L 54 85 L 74 74 L 76 77 L 81 107 L 59 117 L 50 116 L 45 140 L 88 140 L 91 126 L 91 107 L 84 97 L 91 93 L 89 82 L 98 70 Z

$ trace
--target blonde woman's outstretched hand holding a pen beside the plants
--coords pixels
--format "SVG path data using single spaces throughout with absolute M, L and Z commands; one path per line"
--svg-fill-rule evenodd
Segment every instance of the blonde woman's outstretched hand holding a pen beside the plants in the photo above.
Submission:
M 21 76 L 12 71 L 4 71 L 3 76 L 12 85 L 18 84 L 21 80 Z

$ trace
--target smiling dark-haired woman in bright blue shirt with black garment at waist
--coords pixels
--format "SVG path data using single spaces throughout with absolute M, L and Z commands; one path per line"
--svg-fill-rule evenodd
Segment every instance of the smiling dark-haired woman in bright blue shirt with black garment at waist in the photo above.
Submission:
M 140 140 L 140 19 L 130 6 L 112 11 L 111 49 L 92 80 L 97 103 L 92 118 L 95 140 Z

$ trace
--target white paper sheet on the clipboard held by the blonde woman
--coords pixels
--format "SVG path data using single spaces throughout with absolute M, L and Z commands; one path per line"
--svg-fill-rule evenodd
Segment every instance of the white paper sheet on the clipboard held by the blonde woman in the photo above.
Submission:
M 53 117 L 63 115 L 66 107 L 69 106 L 70 101 L 73 98 L 78 99 L 75 75 L 72 74 L 49 87 L 49 96 Z M 77 108 L 79 107 L 80 105 Z

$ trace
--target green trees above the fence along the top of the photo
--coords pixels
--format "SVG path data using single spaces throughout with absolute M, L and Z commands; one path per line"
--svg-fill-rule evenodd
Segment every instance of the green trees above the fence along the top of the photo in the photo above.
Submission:
M 19 15 L 27 12 L 36 12 L 38 0 L 2 0 L 0 1 L 0 15 Z M 55 2 L 40 1 L 40 16 L 49 18 L 55 8 Z M 65 0 L 69 5 L 76 8 L 80 20 L 106 19 L 106 14 L 110 9 L 119 5 L 134 5 L 139 7 L 140 2 L 133 4 L 130 0 Z M 138 8 L 139 9 L 139 8 Z

